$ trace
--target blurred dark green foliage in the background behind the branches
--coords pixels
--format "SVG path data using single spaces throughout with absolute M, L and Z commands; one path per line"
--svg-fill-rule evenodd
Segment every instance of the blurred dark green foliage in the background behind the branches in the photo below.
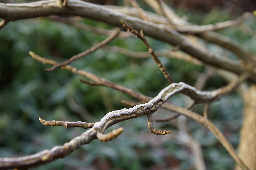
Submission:
M 150 10 L 147 6 L 145 9 Z M 198 25 L 226 21 L 240 15 L 231 15 L 222 8 L 213 8 L 207 13 L 195 9 L 195 12 L 191 12 L 184 7 L 177 9 L 180 16 L 186 16 L 189 22 Z M 81 22 L 111 29 L 109 25 L 89 19 Z M 241 26 L 219 33 L 256 53 L 255 32 L 248 33 L 244 27 L 255 30 L 255 19 L 248 19 Z M 126 107 L 120 103 L 121 99 L 134 100 L 107 87 L 82 84 L 79 82 L 81 76 L 66 70 L 57 69 L 47 73 L 43 69 L 50 66 L 33 60 L 28 54 L 31 50 L 43 57 L 63 61 L 105 38 L 47 18 L 10 22 L 0 30 L 0 157 L 22 156 L 50 149 L 84 131 L 82 128 L 46 127 L 38 121 L 38 117 L 45 120 L 93 122 L 100 120 L 109 111 Z M 147 40 L 154 50 L 173 48 L 148 37 Z M 211 51 L 235 58 L 232 53 L 216 45 L 205 44 Z M 145 45 L 135 37 L 115 39 L 108 45 L 147 51 Z M 160 59 L 175 82 L 194 85 L 197 76 L 204 70 L 202 66 L 170 57 Z M 100 49 L 71 65 L 152 97 L 168 85 L 152 58 L 135 59 Z M 204 90 L 213 90 L 226 83 L 221 77 L 213 76 Z M 183 95 L 175 95 L 170 102 L 186 105 Z M 232 93 L 213 102 L 209 109 L 209 119 L 235 148 L 239 142 L 242 108 L 242 100 Z M 200 114 L 203 105 L 192 110 Z M 154 118 L 168 115 L 171 113 L 159 109 Z M 109 128 L 124 127 L 123 134 L 112 141 L 105 143 L 94 140 L 63 159 L 35 169 L 193 169 L 191 151 L 175 138 L 177 128 L 170 122 L 154 124 L 156 128 L 172 129 L 173 132 L 165 136 L 150 134 L 146 117 L 140 117 Z M 231 156 L 207 129 L 195 121 L 188 120 L 188 124 L 193 136 L 202 145 L 207 169 L 225 170 L 234 167 Z

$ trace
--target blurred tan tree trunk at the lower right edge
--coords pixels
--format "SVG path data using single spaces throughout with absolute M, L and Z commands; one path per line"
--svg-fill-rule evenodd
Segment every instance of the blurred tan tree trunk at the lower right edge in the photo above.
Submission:
M 244 163 L 256 170 L 256 86 L 244 92 L 244 118 L 240 131 L 239 155 Z M 240 170 L 236 166 L 236 170 Z

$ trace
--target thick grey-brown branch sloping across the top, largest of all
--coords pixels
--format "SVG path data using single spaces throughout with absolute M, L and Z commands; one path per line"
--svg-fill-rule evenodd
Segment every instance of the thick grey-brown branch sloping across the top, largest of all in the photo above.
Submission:
M 251 75 L 249 79 L 256 83 L 256 70 L 254 68 L 241 65 L 234 60 L 224 58 L 206 49 L 202 50 L 188 42 L 185 37 L 168 26 L 147 22 L 136 17 L 127 16 L 125 14 L 109 10 L 99 5 L 82 2 L 79 0 L 69 0 L 68 7 L 69 8 L 57 7 L 55 0 L 38 1 L 33 3 L 25 3 L 22 5 L 0 3 L 0 17 L 12 21 L 39 16 L 66 14 L 102 21 L 117 27 L 121 26 L 120 20 L 123 20 L 130 24 L 130 26 L 135 30 L 143 30 L 145 35 L 168 42 L 175 46 L 180 46 L 182 51 L 203 61 L 204 63 L 232 71 L 236 74 L 250 72 Z

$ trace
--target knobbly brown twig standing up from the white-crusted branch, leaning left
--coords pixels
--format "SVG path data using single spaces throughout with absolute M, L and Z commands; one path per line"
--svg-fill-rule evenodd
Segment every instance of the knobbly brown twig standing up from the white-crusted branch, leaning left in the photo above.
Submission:
M 173 83 L 173 79 L 171 77 L 171 75 L 168 73 L 167 69 L 165 68 L 165 66 L 161 63 L 161 61 L 158 59 L 158 57 L 156 56 L 156 53 L 154 52 L 154 50 L 151 48 L 151 46 L 149 45 L 149 43 L 147 42 L 147 40 L 144 37 L 143 31 L 141 30 L 140 33 L 136 30 L 134 30 L 131 26 L 129 26 L 126 22 L 123 22 L 121 20 L 121 23 L 123 24 L 123 27 L 125 27 L 127 29 L 127 31 L 130 31 L 131 33 L 133 33 L 136 37 L 138 37 L 139 39 L 141 39 L 142 42 L 144 42 L 144 44 L 146 45 L 146 47 L 148 48 L 149 53 L 152 55 L 153 59 L 155 60 L 155 62 L 157 63 L 158 67 L 160 68 L 160 70 L 162 71 L 162 73 L 164 74 L 164 77 L 170 82 Z

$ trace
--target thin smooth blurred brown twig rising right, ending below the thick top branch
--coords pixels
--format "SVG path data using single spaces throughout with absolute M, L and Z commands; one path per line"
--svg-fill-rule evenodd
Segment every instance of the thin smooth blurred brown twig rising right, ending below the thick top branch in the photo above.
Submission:
M 66 60 L 66 61 L 64 61 L 64 62 L 62 62 L 62 63 L 56 64 L 56 65 L 54 65 L 54 66 L 51 67 L 51 68 L 45 69 L 45 71 L 48 71 L 48 72 L 49 72 L 49 71 L 53 71 L 53 70 L 55 70 L 56 68 L 59 68 L 59 67 L 61 67 L 61 66 L 65 66 L 65 65 L 67 65 L 67 64 L 70 64 L 71 62 L 73 62 L 73 61 L 75 61 L 75 60 L 77 60 L 77 59 L 79 59 L 79 58 L 81 58 L 81 57 L 83 57 L 83 56 L 85 56 L 85 55 L 88 55 L 88 54 L 90 54 L 90 53 L 92 53 L 92 52 L 94 52 L 94 51 L 96 51 L 97 49 L 101 48 L 102 46 L 104 46 L 104 45 L 107 44 L 108 42 L 110 42 L 110 41 L 112 41 L 113 39 L 115 39 L 116 36 L 117 36 L 120 32 L 121 32 L 121 30 L 120 30 L 119 28 L 116 29 L 116 31 L 115 31 L 113 34 L 111 34 L 108 38 L 106 38 L 104 41 L 102 41 L 102 42 L 100 42 L 100 43 L 94 45 L 93 47 L 87 49 L 86 51 L 84 51 L 84 52 L 82 52 L 82 53 L 79 53 L 79 54 L 76 54 L 76 55 L 72 56 L 69 60 Z

